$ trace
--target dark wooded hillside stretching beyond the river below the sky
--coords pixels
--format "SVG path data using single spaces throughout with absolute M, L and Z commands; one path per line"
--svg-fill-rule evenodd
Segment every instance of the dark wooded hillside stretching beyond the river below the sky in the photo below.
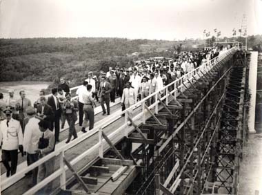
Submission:
M 70 86 L 76 86 L 89 71 L 97 74 L 117 64 L 130 66 L 146 57 L 172 57 L 178 48 L 188 50 L 193 45 L 203 48 L 204 42 L 201 39 L 164 41 L 95 37 L 0 39 L 0 82 L 57 83 L 60 77 L 65 77 Z M 248 37 L 248 47 L 261 50 L 261 45 L 261 35 Z M 135 52 L 137 55 L 132 55 Z

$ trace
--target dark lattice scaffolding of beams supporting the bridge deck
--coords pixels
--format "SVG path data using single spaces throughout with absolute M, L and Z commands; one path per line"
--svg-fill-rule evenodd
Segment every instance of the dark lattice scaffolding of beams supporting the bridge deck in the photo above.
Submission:
M 208 73 L 201 72 L 185 92 L 178 91 L 177 98 L 170 97 L 164 109 L 139 127 L 146 139 L 129 138 L 142 145 L 131 155 L 141 162 L 141 174 L 128 194 L 207 194 L 227 187 L 232 189 L 226 193 L 235 192 L 238 172 L 228 167 L 239 160 L 247 119 L 246 109 L 239 109 L 246 96 L 246 73 L 239 69 L 244 66 L 237 65 L 245 60 L 239 56 L 225 57 Z

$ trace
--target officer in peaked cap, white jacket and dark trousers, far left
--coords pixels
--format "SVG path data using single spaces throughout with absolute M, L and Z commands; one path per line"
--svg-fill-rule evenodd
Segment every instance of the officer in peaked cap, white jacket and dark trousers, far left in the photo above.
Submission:
M 2 162 L 6 167 L 6 176 L 14 175 L 17 171 L 18 149 L 23 156 L 23 133 L 20 122 L 12 118 L 12 111 L 3 111 L 6 119 L 0 123 L 0 143 L 2 142 Z M 11 161 L 11 166 L 9 164 Z

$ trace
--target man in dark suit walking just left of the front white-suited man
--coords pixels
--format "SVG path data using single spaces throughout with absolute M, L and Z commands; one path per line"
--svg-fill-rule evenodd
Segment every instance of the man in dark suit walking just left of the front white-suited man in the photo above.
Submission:
M 109 82 L 105 81 L 105 77 L 101 77 L 101 83 L 99 86 L 99 98 L 100 98 L 100 103 L 103 109 L 103 115 L 105 115 L 105 106 L 106 104 L 106 109 L 108 111 L 108 115 L 110 115 L 110 92 L 112 90 L 112 86 L 110 85 Z

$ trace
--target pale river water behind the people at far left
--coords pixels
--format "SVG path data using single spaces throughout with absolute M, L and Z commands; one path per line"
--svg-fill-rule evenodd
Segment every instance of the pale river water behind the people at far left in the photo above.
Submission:
M 0 93 L 3 93 L 3 98 L 8 96 L 8 90 L 14 90 L 14 97 L 19 99 L 19 91 L 24 90 L 26 97 L 31 100 L 32 104 L 39 97 L 41 89 L 47 89 L 51 82 L 0 82 Z

